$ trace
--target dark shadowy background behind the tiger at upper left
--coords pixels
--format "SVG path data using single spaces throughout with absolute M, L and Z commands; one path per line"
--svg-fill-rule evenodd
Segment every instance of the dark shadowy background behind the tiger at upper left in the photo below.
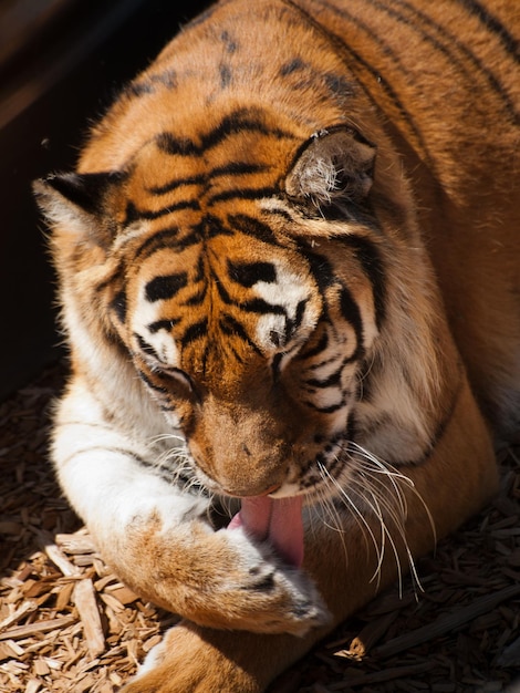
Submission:
M 0 399 L 62 355 L 31 182 L 74 167 L 89 124 L 209 0 L 0 0 Z

